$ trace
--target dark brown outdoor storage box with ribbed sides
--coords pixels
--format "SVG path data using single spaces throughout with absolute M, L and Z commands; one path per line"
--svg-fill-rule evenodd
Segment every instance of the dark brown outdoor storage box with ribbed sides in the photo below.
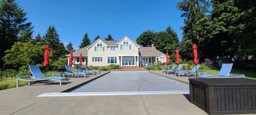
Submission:
M 256 114 L 256 80 L 190 78 L 190 102 L 214 114 Z

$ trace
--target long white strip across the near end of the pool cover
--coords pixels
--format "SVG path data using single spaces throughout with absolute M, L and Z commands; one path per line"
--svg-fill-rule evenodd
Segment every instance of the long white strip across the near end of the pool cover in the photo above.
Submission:
M 43 93 L 37 97 L 64 97 L 64 96 L 96 96 L 96 95 L 150 95 L 150 94 L 189 94 L 189 91 L 141 91 L 141 92 L 68 92 Z

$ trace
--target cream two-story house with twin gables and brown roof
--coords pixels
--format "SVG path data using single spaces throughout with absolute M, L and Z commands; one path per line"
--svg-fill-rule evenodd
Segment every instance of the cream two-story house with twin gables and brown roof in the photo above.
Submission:
M 117 64 L 123 67 L 139 66 L 139 64 L 154 63 L 158 60 L 166 62 L 165 54 L 156 50 L 154 44 L 151 44 L 151 47 L 143 47 L 128 36 L 124 36 L 119 41 L 97 39 L 94 43 L 74 51 L 74 64 L 79 64 L 80 53 L 82 53 L 82 64 L 88 66 Z

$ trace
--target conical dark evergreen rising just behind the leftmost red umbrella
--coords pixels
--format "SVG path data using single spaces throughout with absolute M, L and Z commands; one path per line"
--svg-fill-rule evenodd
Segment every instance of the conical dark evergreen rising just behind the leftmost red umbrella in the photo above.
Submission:
M 59 35 L 54 26 L 49 26 L 43 39 L 51 48 L 49 58 L 52 61 L 58 60 L 59 57 L 63 57 L 65 54 L 67 54 L 65 46 L 62 42 L 60 42 Z

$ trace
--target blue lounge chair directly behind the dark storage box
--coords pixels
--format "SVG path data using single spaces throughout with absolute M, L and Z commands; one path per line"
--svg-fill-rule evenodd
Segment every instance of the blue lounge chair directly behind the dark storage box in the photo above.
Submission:
M 196 77 L 199 77 L 199 78 L 238 78 L 238 77 L 243 77 L 244 78 L 244 75 L 242 75 L 242 74 L 230 73 L 232 66 L 233 66 L 233 64 L 222 64 L 222 68 L 220 69 L 218 75 L 199 75 Z

